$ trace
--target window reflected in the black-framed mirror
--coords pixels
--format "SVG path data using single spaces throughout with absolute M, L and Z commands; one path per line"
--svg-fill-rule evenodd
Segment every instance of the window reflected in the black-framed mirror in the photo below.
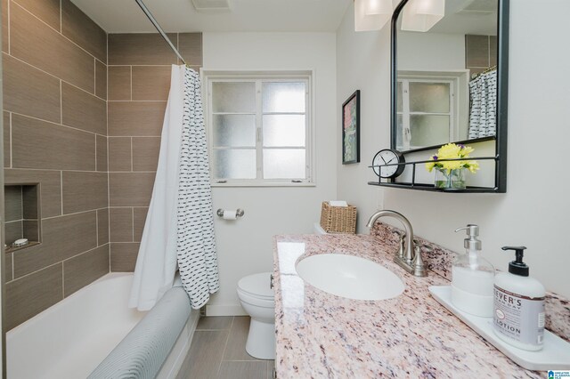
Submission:
M 419 149 L 466 139 L 460 135 L 458 126 L 460 114 L 461 117 L 467 114 L 464 100 L 460 105 L 455 95 L 459 85 L 459 74 L 437 77 L 437 73 L 424 76 L 398 73 L 397 149 Z

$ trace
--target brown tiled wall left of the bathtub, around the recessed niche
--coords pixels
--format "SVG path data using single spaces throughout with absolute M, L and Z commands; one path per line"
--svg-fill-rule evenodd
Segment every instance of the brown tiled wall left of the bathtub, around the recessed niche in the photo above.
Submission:
M 3 0 L 2 18 L 5 182 L 39 183 L 42 224 L 5 256 L 10 329 L 110 270 L 107 36 L 69 0 Z

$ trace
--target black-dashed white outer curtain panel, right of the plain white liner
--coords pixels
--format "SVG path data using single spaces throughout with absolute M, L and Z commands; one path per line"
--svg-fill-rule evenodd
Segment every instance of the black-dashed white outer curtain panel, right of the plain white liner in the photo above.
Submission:
M 177 253 L 191 306 L 200 308 L 219 289 L 214 212 L 199 75 L 184 73 L 183 133 L 178 184 Z

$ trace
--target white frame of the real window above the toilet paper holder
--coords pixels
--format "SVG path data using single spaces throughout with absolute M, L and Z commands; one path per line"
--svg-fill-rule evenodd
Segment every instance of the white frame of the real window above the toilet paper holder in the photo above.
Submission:
M 215 82 L 254 82 L 256 83 L 256 179 L 214 178 L 213 159 L 210 154 L 210 177 L 212 187 L 314 187 L 315 181 L 315 133 L 314 133 L 314 72 L 305 71 L 214 71 L 203 70 L 202 93 L 204 118 L 208 139 L 208 151 L 214 151 L 212 84 Z M 263 179 L 263 124 L 261 85 L 263 82 L 305 82 L 305 179 Z M 280 112 L 281 113 L 281 112 Z M 279 148 L 277 148 L 279 149 Z M 294 148 L 293 148 L 294 149 Z

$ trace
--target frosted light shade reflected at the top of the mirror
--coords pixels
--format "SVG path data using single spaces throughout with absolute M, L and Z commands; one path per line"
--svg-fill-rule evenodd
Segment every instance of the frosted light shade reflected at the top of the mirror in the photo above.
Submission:
M 403 7 L 402 30 L 427 32 L 445 15 L 445 0 L 410 0 Z

